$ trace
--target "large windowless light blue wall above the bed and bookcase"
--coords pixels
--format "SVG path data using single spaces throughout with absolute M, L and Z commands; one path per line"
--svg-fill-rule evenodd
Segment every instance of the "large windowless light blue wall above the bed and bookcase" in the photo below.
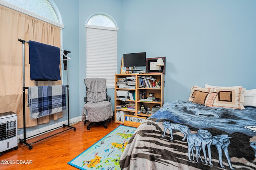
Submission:
M 123 2 L 123 52 L 166 57 L 165 102 L 194 85 L 256 88 L 255 0 Z

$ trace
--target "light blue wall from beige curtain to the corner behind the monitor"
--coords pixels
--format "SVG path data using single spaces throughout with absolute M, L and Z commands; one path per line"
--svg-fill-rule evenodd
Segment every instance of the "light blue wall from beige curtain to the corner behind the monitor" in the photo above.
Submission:
M 70 118 L 82 115 L 86 86 L 86 21 L 96 13 L 105 13 L 117 23 L 118 58 L 122 55 L 122 4 L 120 0 L 54 0 L 60 10 L 63 24 L 63 46 L 71 51 L 68 78 L 70 84 Z M 122 57 L 121 57 L 122 58 Z M 118 63 L 121 63 L 118 59 Z M 104 69 L 104 68 L 102 68 Z M 120 70 L 120 66 L 117 70 Z M 114 89 L 108 89 L 114 98 Z M 111 100 L 114 107 L 114 100 Z

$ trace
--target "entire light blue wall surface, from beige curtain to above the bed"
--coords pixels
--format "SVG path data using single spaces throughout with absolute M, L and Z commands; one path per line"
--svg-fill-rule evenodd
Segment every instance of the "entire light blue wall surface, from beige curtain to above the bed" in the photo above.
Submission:
M 88 18 L 106 13 L 116 21 L 118 68 L 124 53 L 166 57 L 164 98 L 187 100 L 190 87 L 256 88 L 255 0 L 54 0 L 65 25 L 70 118 L 82 114 Z M 104 69 L 104 68 L 102 68 Z M 66 72 L 63 80 L 65 83 Z M 113 98 L 114 90 L 108 90 Z M 67 119 L 64 117 L 46 125 Z M 43 126 L 43 125 L 42 125 Z M 41 125 L 39 126 L 41 127 Z M 38 127 L 36 127 L 38 128 Z M 33 129 L 33 128 L 32 128 Z

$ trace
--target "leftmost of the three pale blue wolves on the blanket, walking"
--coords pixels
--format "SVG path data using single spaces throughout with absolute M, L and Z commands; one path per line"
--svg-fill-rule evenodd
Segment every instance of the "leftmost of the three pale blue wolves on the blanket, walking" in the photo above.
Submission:
M 186 125 L 180 125 L 176 123 L 170 123 L 169 121 L 164 121 L 163 126 L 164 126 L 164 134 L 162 137 L 163 138 L 165 137 L 165 133 L 168 129 L 171 133 L 171 139 L 170 139 L 171 141 L 173 140 L 172 130 L 179 130 L 181 133 L 184 134 L 184 138 L 182 139 L 182 141 L 186 139 L 187 135 L 191 134 L 190 129 Z

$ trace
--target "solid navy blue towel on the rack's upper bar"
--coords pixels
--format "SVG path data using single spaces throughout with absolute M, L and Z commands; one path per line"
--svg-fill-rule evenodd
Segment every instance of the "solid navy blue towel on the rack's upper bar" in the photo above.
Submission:
M 29 41 L 30 80 L 61 80 L 60 48 Z

